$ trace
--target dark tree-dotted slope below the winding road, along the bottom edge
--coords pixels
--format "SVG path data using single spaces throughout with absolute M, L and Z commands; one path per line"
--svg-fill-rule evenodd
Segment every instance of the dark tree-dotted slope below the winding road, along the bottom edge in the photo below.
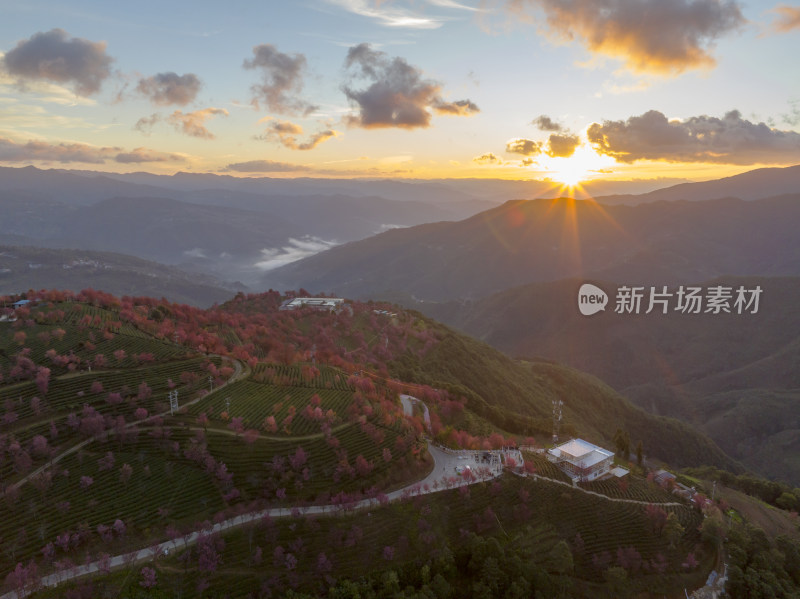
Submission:
M 700 545 L 701 516 L 670 509 L 693 531 L 674 545 L 643 506 L 505 476 L 368 515 L 267 518 L 159 558 L 154 590 L 185 597 L 207 587 L 258 597 L 602 597 L 610 596 L 603 588 L 614 569 L 623 574 L 615 596 L 698 586 L 713 558 Z M 690 553 L 695 562 L 687 569 Z M 94 596 L 136 596 L 141 580 L 112 575 L 87 588 Z

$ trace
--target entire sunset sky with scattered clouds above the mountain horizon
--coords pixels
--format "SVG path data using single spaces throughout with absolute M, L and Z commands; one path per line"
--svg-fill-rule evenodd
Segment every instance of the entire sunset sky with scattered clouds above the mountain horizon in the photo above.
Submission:
M 706 180 L 800 164 L 800 5 L 0 1 L 0 166 Z

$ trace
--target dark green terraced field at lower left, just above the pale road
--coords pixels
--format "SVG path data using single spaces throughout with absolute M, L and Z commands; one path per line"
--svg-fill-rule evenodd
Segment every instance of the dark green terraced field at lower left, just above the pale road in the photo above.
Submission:
M 53 559 L 61 559 L 78 548 L 120 550 L 128 537 L 165 538 L 167 523 L 211 517 L 223 507 L 221 495 L 211 477 L 161 439 L 140 433 L 125 443 L 94 442 L 0 503 L 0 567 L 8 572 L 17 561 L 47 555 L 50 543 Z M 114 531 L 117 520 L 124 527 Z

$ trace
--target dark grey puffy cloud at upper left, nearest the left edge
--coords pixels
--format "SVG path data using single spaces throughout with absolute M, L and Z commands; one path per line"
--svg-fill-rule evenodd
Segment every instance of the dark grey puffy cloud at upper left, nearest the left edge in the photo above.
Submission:
M 63 29 L 33 34 L 17 43 L 3 57 L 5 70 L 26 81 L 49 81 L 71 86 L 79 96 L 97 93 L 111 75 L 113 59 L 106 54 L 105 42 L 69 38 Z

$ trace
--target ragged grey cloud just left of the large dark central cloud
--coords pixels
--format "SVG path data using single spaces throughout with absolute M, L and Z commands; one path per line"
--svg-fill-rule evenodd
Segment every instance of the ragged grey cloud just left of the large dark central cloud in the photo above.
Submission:
M 259 70 L 261 82 L 250 87 L 251 103 L 256 108 L 263 103 L 279 114 L 307 115 L 318 107 L 297 97 L 303 90 L 306 57 L 302 54 L 284 54 L 272 44 L 253 47 L 253 59 L 245 60 L 245 69 Z

